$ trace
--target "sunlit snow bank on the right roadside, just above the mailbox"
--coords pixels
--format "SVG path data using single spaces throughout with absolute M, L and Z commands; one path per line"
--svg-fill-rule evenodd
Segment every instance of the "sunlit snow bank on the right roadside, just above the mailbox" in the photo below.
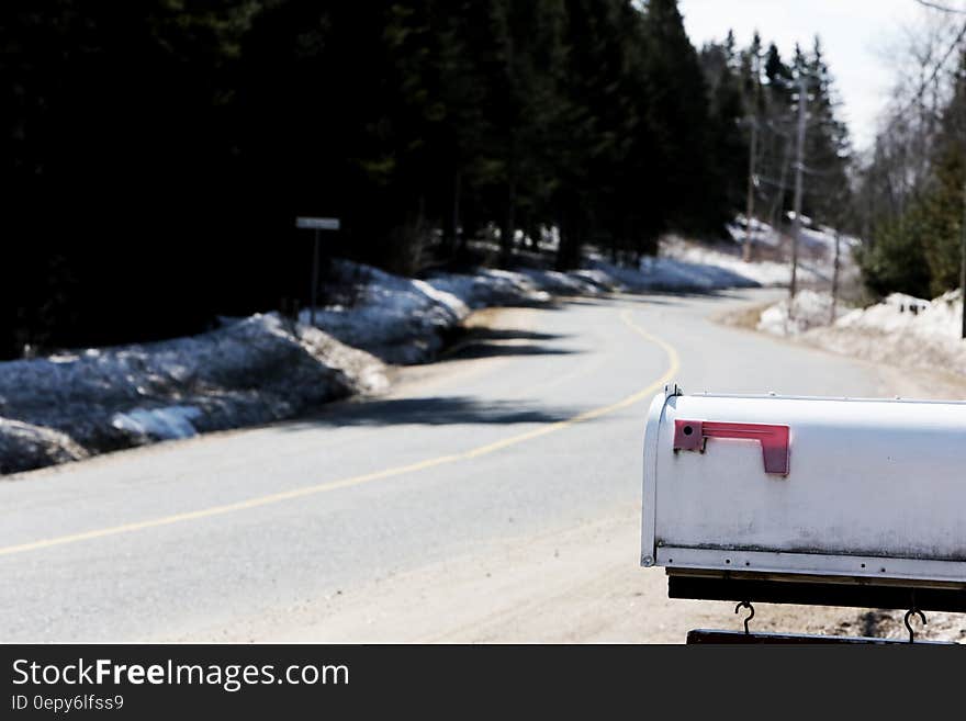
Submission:
M 958 291 L 933 301 L 892 294 L 885 302 L 846 313 L 833 326 L 804 336 L 811 343 L 905 368 L 966 374 Z

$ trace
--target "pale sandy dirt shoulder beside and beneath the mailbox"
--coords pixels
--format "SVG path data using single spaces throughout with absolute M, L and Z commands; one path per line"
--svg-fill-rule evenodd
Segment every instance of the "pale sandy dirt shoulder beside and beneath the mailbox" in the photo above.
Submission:
M 324 643 L 683 643 L 741 630 L 730 601 L 667 598 L 662 568 L 637 562 L 640 509 L 390 574 L 352 590 L 242 619 L 195 641 Z M 906 638 L 900 611 L 755 604 L 755 631 Z M 966 641 L 966 618 L 928 613 L 922 640 Z M 921 630 L 920 630 L 921 629 Z

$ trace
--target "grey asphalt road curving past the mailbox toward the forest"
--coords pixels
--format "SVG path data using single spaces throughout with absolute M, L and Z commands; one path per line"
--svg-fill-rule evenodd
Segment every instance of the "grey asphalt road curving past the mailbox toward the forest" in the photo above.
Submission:
M 243 618 L 593 523 L 639 504 L 644 413 L 672 375 L 878 393 L 866 363 L 709 319 L 770 293 L 495 313 L 383 397 L 4 478 L 0 641 L 227 638 Z

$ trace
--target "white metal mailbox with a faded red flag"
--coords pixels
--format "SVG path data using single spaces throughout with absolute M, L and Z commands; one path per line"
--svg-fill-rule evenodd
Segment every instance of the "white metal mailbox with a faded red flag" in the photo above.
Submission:
M 642 502 L 673 597 L 966 610 L 966 403 L 669 387 Z

